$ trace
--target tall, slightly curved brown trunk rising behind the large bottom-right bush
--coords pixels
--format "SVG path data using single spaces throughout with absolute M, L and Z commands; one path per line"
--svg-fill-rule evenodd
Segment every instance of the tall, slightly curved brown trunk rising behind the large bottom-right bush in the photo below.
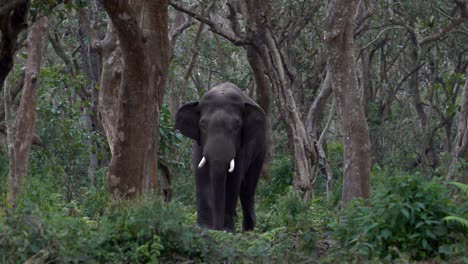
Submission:
M 370 141 L 356 79 L 353 19 L 358 1 L 332 0 L 325 26 L 327 67 L 341 112 L 344 141 L 343 204 L 370 197 Z

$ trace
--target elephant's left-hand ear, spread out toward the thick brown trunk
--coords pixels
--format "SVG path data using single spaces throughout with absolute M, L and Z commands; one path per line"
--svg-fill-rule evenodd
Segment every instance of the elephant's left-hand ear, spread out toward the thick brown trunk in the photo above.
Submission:
M 183 105 L 176 114 L 175 128 L 182 135 L 193 140 L 200 140 L 200 129 L 198 121 L 200 120 L 200 111 L 198 110 L 198 102 L 192 102 Z

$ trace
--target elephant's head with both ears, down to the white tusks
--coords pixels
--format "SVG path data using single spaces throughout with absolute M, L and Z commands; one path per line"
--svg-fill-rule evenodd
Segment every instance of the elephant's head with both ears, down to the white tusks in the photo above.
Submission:
M 264 127 L 264 111 L 231 83 L 212 88 L 176 115 L 176 128 L 202 149 L 199 168 L 211 163 L 233 172 L 242 145 L 264 133 Z

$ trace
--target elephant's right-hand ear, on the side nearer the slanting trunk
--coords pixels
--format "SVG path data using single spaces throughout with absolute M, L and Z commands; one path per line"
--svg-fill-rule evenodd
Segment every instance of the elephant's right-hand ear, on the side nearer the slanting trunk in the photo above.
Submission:
M 257 104 L 245 103 L 242 141 L 264 140 L 266 132 L 266 115 Z

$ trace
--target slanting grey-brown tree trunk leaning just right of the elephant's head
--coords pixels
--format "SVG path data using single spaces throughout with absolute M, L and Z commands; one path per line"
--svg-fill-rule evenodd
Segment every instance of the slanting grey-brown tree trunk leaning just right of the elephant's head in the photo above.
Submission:
M 307 194 L 311 190 L 311 178 L 315 174 L 316 153 L 299 116 L 292 94 L 292 81 L 288 79 L 283 56 L 271 31 L 271 2 L 268 0 L 246 1 L 241 10 L 249 25 L 247 26 L 247 35 L 250 36 L 248 39 L 252 40 L 264 66 L 264 72 L 255 75 L 265 74 L 268 77 L 272 90 L 276 94 L 276 102 L 286 124 L 288 137 L 292 139 L 294 187 Z M 255 69 L 255 66 L 252 69 Z

